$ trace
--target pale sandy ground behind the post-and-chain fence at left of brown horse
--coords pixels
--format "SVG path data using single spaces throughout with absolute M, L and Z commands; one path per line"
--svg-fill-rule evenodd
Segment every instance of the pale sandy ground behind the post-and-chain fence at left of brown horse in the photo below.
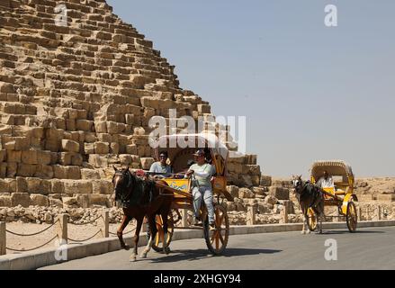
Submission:
M 31 234 L 31 233 L 36 233 L 39 232 L 43 229 L 48 228 L 50 225 L 49 224 L 32 224 L 32 223 L 22 223 L 22 222 L 11 222 L 11 223 L 6 223 L 6 229 L 19 233 L 19 234 Z M 119 227 L 119 224 L 110 224 L 110 233 L 115 233 L 117 228 Z M 130 229 L 134 228 L 134 222 L 130 222 L 129 226 L 124 230 L 125 232 L 130 231 Z M 100 229 L 100 226 L 97 226 L 95 224 L 87 224 L 87 225 L 82 225 L 82 226 L 76 226 L 73 224 L 68 224 L 67 225 L 67 233 L 68 233 L 68 238 L 75 239 L 75 240 L 81 240 L 85 238 L 90 238 L 93 236 L 98 230 Z M 26 237 L 21 237 L 21 236 L 16 236 L 13 235 L 9 232 L 6 232 L 6 247 L 10 247 L 13 249 L 18 249 L 18 250 L 29 250 L 33 247 L 38 247 L 46 242 L 48 242 L 51 238 L 53 238 L 56 235 L 57 232 L 57 225 L 47 229 L 46 231 L 40 233 L 39 235 L 35 236 L 26 236 Z M 131 236 L 131 233 L 129 233 L 127 236 Z M 110 237 L 114 237 L 114 235 L 110 234 Z M 102 233 L 97 234 L 94 238 L 103 238 Z M 57 247 L 58 243 L 58 238 L 53 239 L 50 241 L 47 245 L 44 247 Z M 69 243 L 76 243 L 74 241 L 70 241 Z M 7 254 L 20 254 L 22 252 L 16 252 L 12 251 L 10 249 L 7 249 Z

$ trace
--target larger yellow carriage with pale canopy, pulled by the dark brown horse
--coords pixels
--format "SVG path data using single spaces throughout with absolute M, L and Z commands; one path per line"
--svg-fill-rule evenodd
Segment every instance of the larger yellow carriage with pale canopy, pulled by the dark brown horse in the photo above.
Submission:
M 229 218 L 226 208 L 222 205 L 223 198 L 233 201 L 233 197 L 227 192 L 227 160 L 228 149 L 213 134 L 185 134 L 167 135 L 157 139 L 155 157 L 158 158 L 161 150 L 166 150 L 170 165 L 174 174 L 167 175 L 162 180 L 166 182 L 167 191 L 174 193 L 172 210 L 167 221 L 167 234 L 163 230 L 164 220 L 157 216 L 157 236 L 153 242 L 156 251 L 162 251 L 163 246 L 168 247 L 175 229 L 202 229 L 207 247 L 214 255 L 220 255 L 228 244 L 229 238 Z M 211 178 L 211 185 L 214 198 L 214 218 L 215 229 L 209 229 L 207 208 L 202 202 L 201 215 L 202 227 L 193 225 L 193 176 L 185 178 L 184 174 L 188 170 L 188 163 L 193 157 L 196 148 L 202 148 L 206 152 L 206 159 L 215 167 L 215 174 Z M 180 210 L 183 211 L 180 213 Z M 184 219 L 184 218 L 188 218 Z M 177 223 L 184 225 L 176 225 Z M 166 239 L 165 239 L 166 238 Z M 166 242 L 165 242 L 166 241 Z M 164 243 L 165 242 L 165 243 Z

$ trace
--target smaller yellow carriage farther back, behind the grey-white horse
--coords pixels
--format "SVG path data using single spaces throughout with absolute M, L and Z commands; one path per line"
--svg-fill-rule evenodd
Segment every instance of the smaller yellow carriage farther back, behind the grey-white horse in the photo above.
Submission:
M 334 186 L 323 188 L 324 205 L 337 206 L 338 216 L 346 217 L 347 228 L 350 232 L 355 232 L 357 226 L 357 212 L 355 201 L 358 201 L 354 193 L 355 176 L 351 166 L 344 161 L 318 161 L 311 166 L 311 183 L 317 184 L 324 171 L 331 175 Z M 317 229 L 318 217 L 316 213 L 309 209 L 308 225 L 311 231 Z

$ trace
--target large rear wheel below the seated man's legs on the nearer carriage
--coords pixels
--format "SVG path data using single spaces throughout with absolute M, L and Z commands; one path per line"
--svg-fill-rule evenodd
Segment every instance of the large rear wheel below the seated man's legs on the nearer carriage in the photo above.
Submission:
M 226 209 L 214 204 L 215 230 L 210 231 L 208 218 L 204 220 L 204 238 L 206 245 L 213 255 L 220 255 L 228 245 L 229 239 L 229 217 Z

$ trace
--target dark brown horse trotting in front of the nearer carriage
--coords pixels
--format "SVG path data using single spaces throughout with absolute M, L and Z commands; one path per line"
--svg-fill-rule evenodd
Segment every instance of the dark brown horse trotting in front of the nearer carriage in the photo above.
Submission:
M 174 194 L 167 190 L 166 182 L 150 181 L 142 179 L 135 173 L 130 173 L 129 168 L 115 170 L 112 177 L 112 184 L 114 185 L 115 201 L 121 202 L 123 209 L 123 219 L 120 228 L 117 230 L 117 236 L 120 239 L 121 247 L 129 250 L 122 238 L 123 229 L 126 228 L 130 220 L 137 220 L 137 227 L 134 235 L 134 250 L 130 256 L 130 261 L 136 261 L 138 255 L 137 248 L 139 244 L 139 232 L 147 215 L 150 238 L 148 245 L 141 254 L 141 258 L 146 258 L 149 250 L 152 247 L 153 239 L 157 234 L 156 216 L 162 216 L 163 229 L 165 231 L 165 239 L 167 233 L 167 215 L 169 214 Z M 166 241 L 164 241 L 166 242 Z M 166 243 L 163 245 L 164 253 L 168 253 Z

